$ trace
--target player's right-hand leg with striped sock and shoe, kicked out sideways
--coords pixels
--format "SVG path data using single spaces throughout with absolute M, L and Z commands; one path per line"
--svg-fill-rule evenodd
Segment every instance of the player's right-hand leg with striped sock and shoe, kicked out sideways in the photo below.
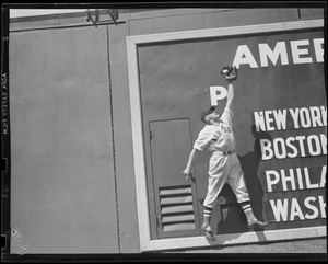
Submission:
M 232 157 L 232 159 L 234 159 L 234 163 L 231 170 L 231 174 L 227 179 L 227 183 L 232 187 L 234 194 L 236 195 L 237 202 L 244 210 L 244 214 L 247 218 L 247 226 L 249 228 L 266 227 L 268 222 L 259 221 L 254 215 L 241 163 L 236 156 Z

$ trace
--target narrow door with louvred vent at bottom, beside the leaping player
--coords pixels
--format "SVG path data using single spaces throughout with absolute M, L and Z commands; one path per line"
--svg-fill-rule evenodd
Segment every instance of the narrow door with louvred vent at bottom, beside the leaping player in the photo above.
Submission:
M 149 123 L 157 238 L 199 233 L 195 179 L 183 175 L 191 151 L 190 120 Z

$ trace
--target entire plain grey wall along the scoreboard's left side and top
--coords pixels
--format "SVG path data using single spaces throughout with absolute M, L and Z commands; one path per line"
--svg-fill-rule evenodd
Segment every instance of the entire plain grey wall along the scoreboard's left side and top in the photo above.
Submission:
M 301 16 L 300 16 L 301 14 Z M 173 9 L 12 21 L 11 251 L 140 252 L 126 36 L 323 18 Z

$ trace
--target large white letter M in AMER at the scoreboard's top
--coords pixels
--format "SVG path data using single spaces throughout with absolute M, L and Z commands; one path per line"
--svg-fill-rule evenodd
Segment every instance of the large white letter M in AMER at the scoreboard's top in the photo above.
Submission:
M 274 50 L 272 51 L 271 48 L 267 43 L 259 44 L 258 45 L 259 53 L 260 53 L 260 61 L 262 67 L 268 67 L 268 57 L 272 61 L 272 64 L 276 66 L 277 60 L 279 56 L 281 56 L 281 65 L 288 65 L 289 59 L 286 55 L 285 49 L 285 43 L 284 42 L 278 42 L 276 44 Z

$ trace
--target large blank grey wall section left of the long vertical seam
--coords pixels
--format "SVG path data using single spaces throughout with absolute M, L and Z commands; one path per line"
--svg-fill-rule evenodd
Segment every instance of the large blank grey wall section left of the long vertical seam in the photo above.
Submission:
M 106 27 L 11 37 L 13 251 L 118 251 L 106 43 Z

